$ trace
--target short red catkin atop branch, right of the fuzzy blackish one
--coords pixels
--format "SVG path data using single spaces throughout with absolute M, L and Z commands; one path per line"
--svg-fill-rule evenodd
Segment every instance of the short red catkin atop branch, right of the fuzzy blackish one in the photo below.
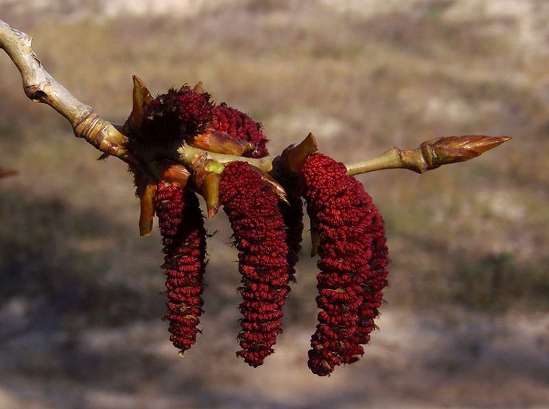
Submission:
M 246 157 L 264 157 L 269 154 L 267 138 L 261 133 L 261 124 L 254 122 L 238 109 L 227 107 L 224 103 L 215 105 L 211 110 L 210 126 L 215 131 L 226 132 L 232 137 L 254 144 L 255 150 L 244 153 Z

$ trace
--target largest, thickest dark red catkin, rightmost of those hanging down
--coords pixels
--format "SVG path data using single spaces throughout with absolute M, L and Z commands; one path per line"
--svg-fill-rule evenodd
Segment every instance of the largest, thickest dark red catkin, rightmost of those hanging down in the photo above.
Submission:
M 307 212 L 318 225 L 318 326 L 309 368 L 319 376 L 351 364 L 377 318 L 388 263 L 384 225 L 371 197 L 344 164 L 321 153 L 303 167 Z

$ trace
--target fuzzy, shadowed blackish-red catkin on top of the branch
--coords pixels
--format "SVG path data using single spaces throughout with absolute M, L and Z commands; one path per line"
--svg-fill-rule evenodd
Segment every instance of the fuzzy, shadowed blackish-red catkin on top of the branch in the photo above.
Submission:
M 142 137 L 156 144 L 192 139 L 202 133 L 211 116 L 209 93 L 184 86 L 170 89 L 145 105 Z

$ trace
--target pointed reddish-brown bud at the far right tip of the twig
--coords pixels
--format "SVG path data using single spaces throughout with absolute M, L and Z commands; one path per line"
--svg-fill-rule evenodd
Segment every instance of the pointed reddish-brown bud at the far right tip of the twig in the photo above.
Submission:
M 439 137 L 419 146 L 430 168 L 464 162 L 511 140 L 509 136 L 463 135 Z

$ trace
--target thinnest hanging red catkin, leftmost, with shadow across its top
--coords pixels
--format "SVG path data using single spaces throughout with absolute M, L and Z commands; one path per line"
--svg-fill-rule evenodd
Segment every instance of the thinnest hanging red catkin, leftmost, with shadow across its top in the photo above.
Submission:
M 184 353 L 196 342 L 202 315 L 206 230 L 198 197 L 191 190 L 159 181 L 154 196 L 164 245 L 166 269 L 165 319 L 170 341 Z

